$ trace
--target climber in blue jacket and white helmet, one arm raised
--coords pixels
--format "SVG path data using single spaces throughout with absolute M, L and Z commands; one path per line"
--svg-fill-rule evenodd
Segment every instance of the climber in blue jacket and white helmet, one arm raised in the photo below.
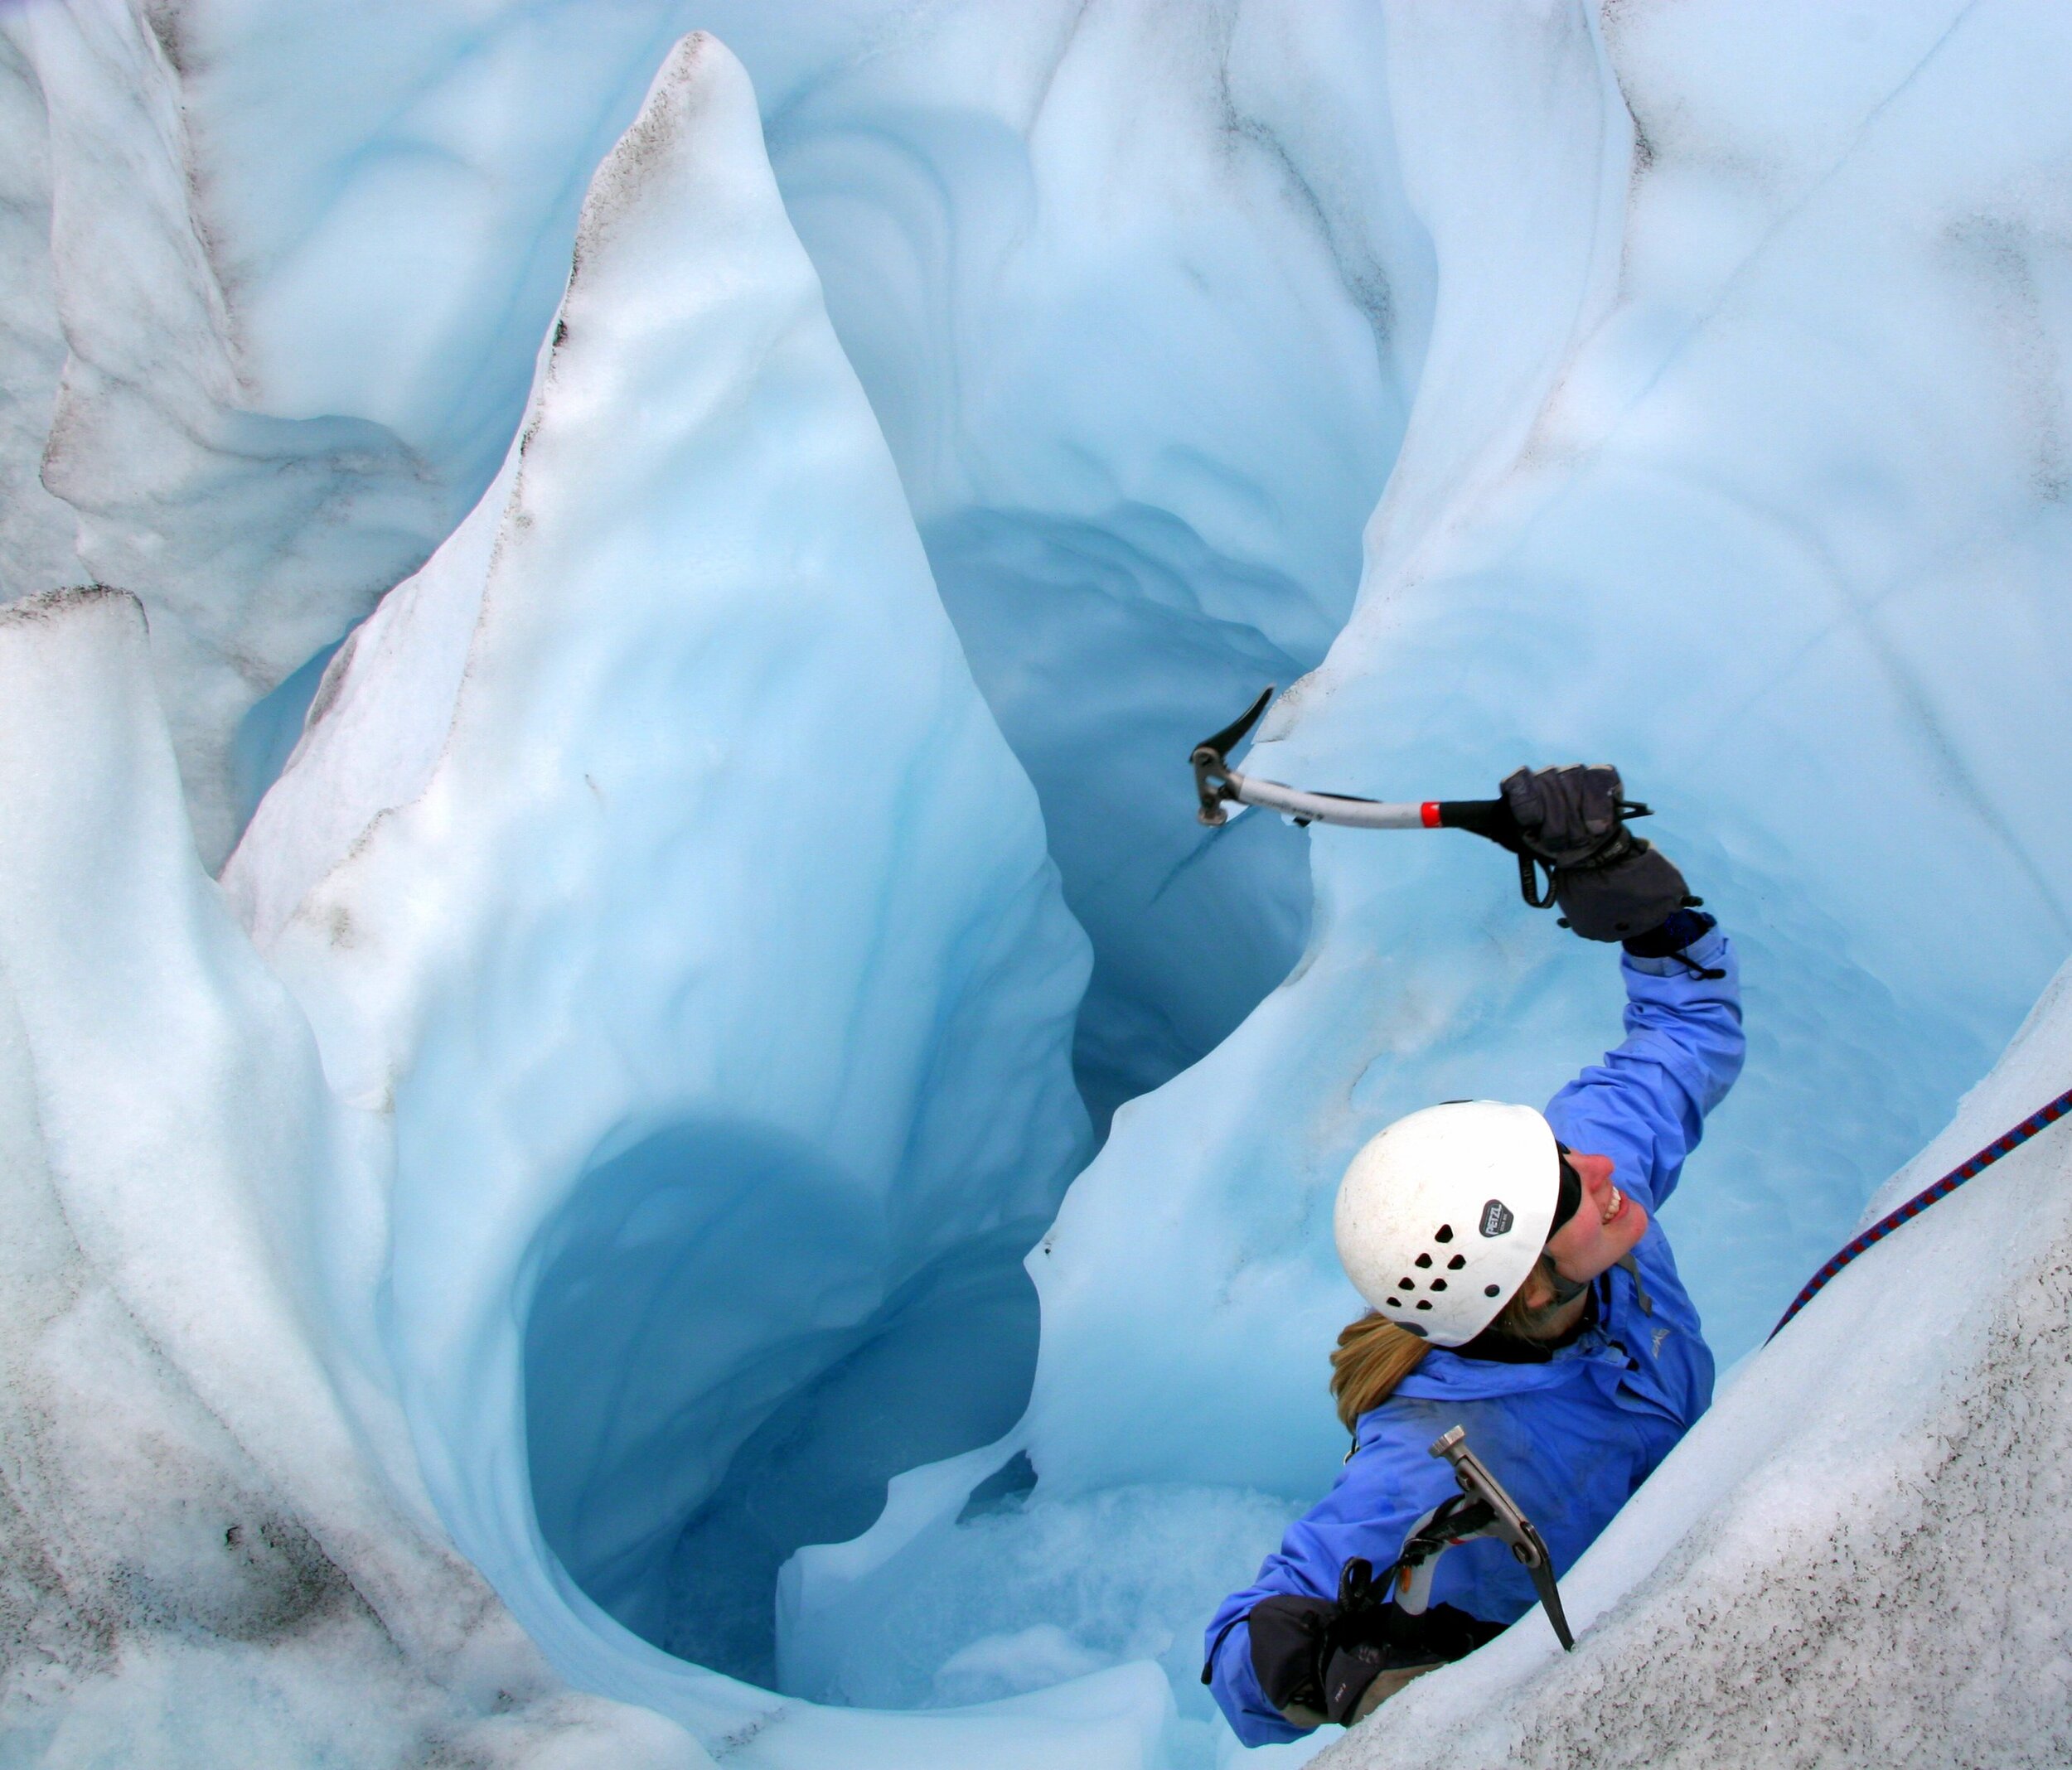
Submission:
M 1494 1538 L 1440 1554 L 1409 1615 L 1390 1569 L 1455 1496 L 1448 1428 L 1566 1571 L 1711 1401 L 1711 1353 L 1653 1212 L 1740 1072 L 1734 953 L 1682 875 L 1620 823 L 1612 769 L 1521 769 L 1504 802 L 1569 924 L 1624 943 L 1627 1040 L 1537 1113 L 1452 1101 L 1388 1125 L 1339 1188 L 1372 1306 L 1330 1391 L 1353 1434 L 1332 1490 L 1208 1627 L 1204 1679 L 1247 1745 L 1351 1724 L 1535 1606 Z M 1349 1563 L 1388 1602 L 1347 1602 Z

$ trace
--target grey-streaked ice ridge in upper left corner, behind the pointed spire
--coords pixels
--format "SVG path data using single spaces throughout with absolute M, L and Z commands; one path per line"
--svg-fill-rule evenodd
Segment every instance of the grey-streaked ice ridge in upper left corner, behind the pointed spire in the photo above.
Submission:
M 66 576 L 135 589 L 203 852 L 230 848 L 228 744 L 263 692 L 336 640 L 452 520 L 394 431 L 282 410 L 240 336 L 170 8 L 25 4 L 50 168 L 64 359 L 39 473 L 70 512 Z M 155 25 L 153 25 L 155 21 Z M 29 131 L 23 131 L 29 133 Z

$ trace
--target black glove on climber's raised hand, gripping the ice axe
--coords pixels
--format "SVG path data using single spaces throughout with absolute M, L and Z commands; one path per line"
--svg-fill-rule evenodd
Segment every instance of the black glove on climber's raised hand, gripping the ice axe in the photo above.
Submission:
M 1695 904 L 1682 873 L 1620 821 L 1618 769 L 1519 769 L 1504 804 L 1525 854 L 1546 864 L 1562 918 L 1585 941 L 1631 941 Z M 1529 902 L 1546 902 L 1527 891 Z

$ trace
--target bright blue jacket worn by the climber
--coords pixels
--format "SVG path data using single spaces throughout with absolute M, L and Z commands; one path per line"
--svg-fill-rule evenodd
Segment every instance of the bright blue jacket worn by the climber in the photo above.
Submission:
M 1740 1074 L 1740 980 L 1718 931 L 1689 958 L 1724 978 L 1691 976 L 1676 960 L 1622 960 L 1627 1043 L 1548 1103 L 1569 1148 L 1608 1154 L 1618 1186 L 1656 1208 L 1676 1190 L 1685 1157 Z M 1339 1569 L 1359 1554 L 1382 1573 L 1413 1523 L 1455 1494 L 1452 1474 L 1428 1453 L 1448 1426 L 1539 1525 L 1566 1573 L 1635 1488 L 1711 1401 L 1711 1351 L 1676 1277 L 1662 1225 L 1649 1221 L 1633 1273 L 1598 1281 L 1598 1320 L 1546 1364 L 1494 1364 L 1434 1347 L 1380 1407 L 1359 1416 L 1355 1449 L 1332 1490 L 1297 1519 L 1260 1577 L 1222 1600 L 1208 1625 L 1210 1683 L 1245 1745 L 1299 1739 L 1251 1675 L 1241 1621 L 1274 1592 L 1336 1598 Z M 1490 1623 L 1537 1604 L 1531 1575 L 1500 1542 L 1477 1538 L 1440 1557 L 1436 1602 Z

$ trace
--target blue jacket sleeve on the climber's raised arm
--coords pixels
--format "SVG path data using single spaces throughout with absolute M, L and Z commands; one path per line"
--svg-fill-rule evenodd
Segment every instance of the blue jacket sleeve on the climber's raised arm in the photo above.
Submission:
M 1676 1190 L 1705 1113 L 1734 1086 L 1745 1051 L 1732 941 L 1709 929 L 1687 958 L 1691 964 L 1620 958 L 1627 1040 L 1548 1103 L 1554 1134 L 1571 1148 L 1612 1157 L 1618 1183 L 1641 1188 L 1649 1208 Z

